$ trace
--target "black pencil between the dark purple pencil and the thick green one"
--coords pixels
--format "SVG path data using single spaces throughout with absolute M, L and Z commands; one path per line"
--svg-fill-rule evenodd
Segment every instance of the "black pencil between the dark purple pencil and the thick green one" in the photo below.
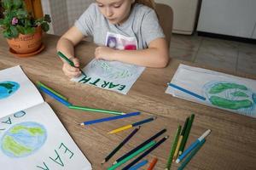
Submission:
M 164 128 L 163 130 L 161 130 L 158 133 L 155 133 L 153 136 L 151 136 L 149 139 L 145 140 L 142 144 L 137 145 L 136 148 L 134 148 L 133 150 L 129 151 L 128 153 L 126 153 L 124 156 L 119 157 L 116 161 L 113 162 L 113 164 L 118 163 L 119 161 L 122 161 L 123 159 L 125 159 L 125 157 L 130 156 L 132 153 L 136 152 L 137 150 L 141 149 L 144 145 L 148 144 L 149 142 L 151 142 L 152 140 L 156 139 L 157 137 L 159 137 L 161 134 L 166 132 L 166 128 Z

